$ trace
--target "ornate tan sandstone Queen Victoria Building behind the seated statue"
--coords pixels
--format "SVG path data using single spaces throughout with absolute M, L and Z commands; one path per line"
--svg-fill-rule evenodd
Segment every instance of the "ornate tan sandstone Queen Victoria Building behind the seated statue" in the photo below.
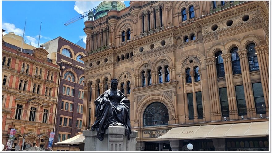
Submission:
M 268 150 L 268 133 L 157 139 L 178 127 L 266 126 L 267 1 L 131 1 L 112 8 L 95 20 L 90 12 L 84 23 L 82 130 L 95 121 L 93 101 L 117 78 L 130 99 L 138 151 L 181 151 L 188 143 L 194 151 Z

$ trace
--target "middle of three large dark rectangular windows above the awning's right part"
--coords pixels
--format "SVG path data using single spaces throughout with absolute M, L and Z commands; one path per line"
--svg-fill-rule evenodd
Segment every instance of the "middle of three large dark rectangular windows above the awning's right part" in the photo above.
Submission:
M 246 102 L 244 97 L 244 86 L 235 86 L 238 115 L 246 115 Z

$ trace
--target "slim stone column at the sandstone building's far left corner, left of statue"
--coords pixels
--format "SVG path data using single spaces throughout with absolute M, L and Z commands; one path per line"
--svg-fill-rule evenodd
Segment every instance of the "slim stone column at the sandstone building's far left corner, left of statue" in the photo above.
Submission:
M 88 86 L 84 87 L 84 100 L 83 100 L 83 114 L 82 114 L 82 127 L 81 127 L 81 131 L 83 130 L 87 130 L 87 125 L 88 123 L 88 109 L 89 109 L 89 100 L 88 100 Z

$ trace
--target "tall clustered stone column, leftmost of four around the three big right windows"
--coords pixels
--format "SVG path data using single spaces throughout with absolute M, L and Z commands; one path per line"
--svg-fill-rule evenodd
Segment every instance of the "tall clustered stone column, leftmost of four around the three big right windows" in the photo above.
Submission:
M 217 87 L 217 75 L 216 75 L 216 65 L 215 57 L 205 58 L 207 74 L 208 74 L 208 84 L 209 84 L 209 95 L 210 103 L 212 106 L 211 109 L 211 120 L 212 121 L 221 121 L 221 112 L 219 106 L 219 93 Z

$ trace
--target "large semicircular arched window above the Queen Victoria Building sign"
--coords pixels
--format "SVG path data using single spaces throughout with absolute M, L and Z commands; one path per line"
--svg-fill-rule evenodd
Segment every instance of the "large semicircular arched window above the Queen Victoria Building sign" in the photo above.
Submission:
M 143 118 L 144 126 L 167 125 L 169 114 L 164 104 L 154 102 L 147 106 Z

